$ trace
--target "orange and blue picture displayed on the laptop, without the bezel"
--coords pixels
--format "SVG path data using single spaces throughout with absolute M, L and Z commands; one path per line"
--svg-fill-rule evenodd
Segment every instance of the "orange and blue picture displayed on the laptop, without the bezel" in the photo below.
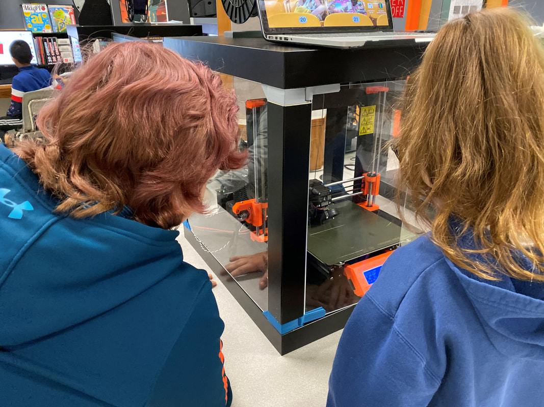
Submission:
M 269 28 L 390 26 L 385 1 L 264 0 L 264 7 Z

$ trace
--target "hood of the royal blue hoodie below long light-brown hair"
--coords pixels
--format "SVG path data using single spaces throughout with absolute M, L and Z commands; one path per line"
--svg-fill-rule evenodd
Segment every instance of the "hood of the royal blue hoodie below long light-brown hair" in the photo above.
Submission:
M 468 230 L 459 237 L 458 244 L 475 248 L 472 232 Z M 475 257 L 485 263 L 483 257 Z M 526 258 L 520 257 L 519 261 L 531 269 Z M 481 279 L 447 257 L 446 262 L 459 278 L 493 346 L 505 355 L 544 361 L 544 284 L 506 275 L 499 281 Z

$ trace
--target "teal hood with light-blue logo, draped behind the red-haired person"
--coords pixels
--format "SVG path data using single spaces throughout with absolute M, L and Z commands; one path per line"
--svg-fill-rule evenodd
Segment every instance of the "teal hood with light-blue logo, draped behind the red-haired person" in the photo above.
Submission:
M 53 213 L 57 203 L 0 147 L 0 347 L 89 321 L 182 266 L 177 231 L 127 219 L 126 210 L 72 219 Z

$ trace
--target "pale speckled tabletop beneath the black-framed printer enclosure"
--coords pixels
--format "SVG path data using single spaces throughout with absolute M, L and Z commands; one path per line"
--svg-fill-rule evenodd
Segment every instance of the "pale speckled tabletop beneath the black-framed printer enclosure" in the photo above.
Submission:
M 193 247 L 178 238 L 184 259 L 211 272 Z M 232 407 L 325 406 L 327 381 L 341 331 L 280 356 L 219 279 L 213 289 L 225 321 L 225 370 L 234 394 Z

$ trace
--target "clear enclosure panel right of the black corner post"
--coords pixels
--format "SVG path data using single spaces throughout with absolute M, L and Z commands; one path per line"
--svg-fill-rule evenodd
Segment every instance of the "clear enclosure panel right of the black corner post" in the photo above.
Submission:
M 349 84 L 314 97 L 307 311 L 323 307 L 328 313 L 358 302 L 388 255 L 418 236 L 398 213 L 398 160 L 388 147 L 398 131 L 404 85 Z M 401 205 L 401 211 L 410 220 L 410 210 Z

